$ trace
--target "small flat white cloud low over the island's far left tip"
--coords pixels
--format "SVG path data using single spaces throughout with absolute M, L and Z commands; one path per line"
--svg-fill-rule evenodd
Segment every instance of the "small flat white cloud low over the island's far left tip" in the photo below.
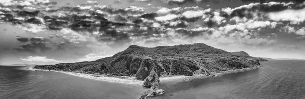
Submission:
M 47 62 L 47 63 L 60 63 L 62 61 L 57 61 L 57 60 L 54 60 L 54 59 L 48 59 L 46 57 L 33 57 L 33 56 L 29 56 L 29 57 L 26 57 L 24 59 L 21 59 L 22 61 L 30 61 L 30 62 Z

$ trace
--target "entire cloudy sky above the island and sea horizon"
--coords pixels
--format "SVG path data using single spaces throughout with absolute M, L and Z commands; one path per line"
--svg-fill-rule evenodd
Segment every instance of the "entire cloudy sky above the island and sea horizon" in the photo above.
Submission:
M 0 65 L 94 61 L 145 47 L 205 43 L 305 59 L 304 0 L 1 0 Z

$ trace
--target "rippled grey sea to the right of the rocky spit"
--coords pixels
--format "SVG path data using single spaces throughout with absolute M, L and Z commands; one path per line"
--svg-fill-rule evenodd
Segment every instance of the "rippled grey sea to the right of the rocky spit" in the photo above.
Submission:
M 156 98 L 305 98 L 305 61 L 261 62 L 258 69 L 216 78 L 167 81 Z

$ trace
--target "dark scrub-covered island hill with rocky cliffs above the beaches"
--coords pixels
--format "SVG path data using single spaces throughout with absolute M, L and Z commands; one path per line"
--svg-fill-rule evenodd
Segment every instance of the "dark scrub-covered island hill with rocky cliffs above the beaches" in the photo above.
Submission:
M 203 43 L 141 47 L 129 46 L 112 57 L 92 62 L 37 65 L 36 69 L 135 76 L 143 86 L 160 83 L 159 77 L 206 74 L 259 66 L 254 57 L 232 54 Z

